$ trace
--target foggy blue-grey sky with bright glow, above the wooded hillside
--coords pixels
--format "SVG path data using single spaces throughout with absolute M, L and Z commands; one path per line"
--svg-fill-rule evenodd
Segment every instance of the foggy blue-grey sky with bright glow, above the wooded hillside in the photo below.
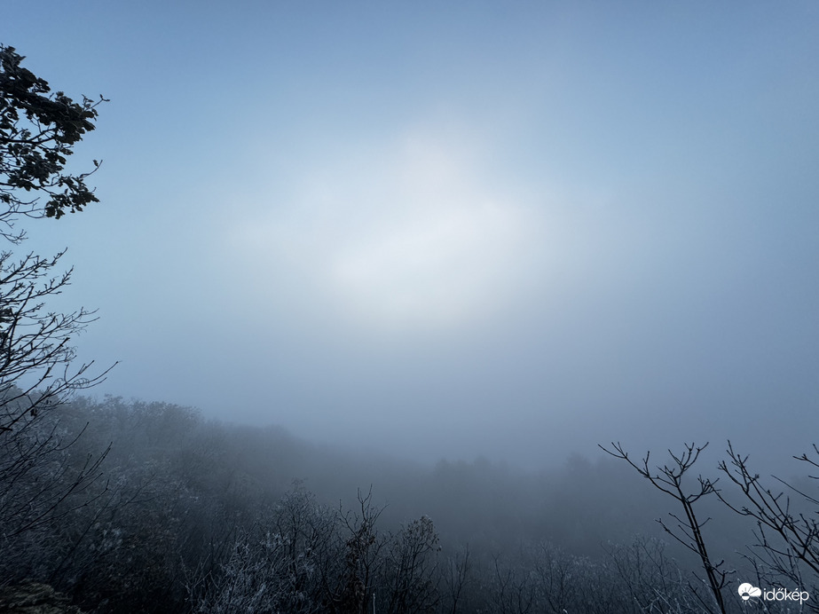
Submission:
M 5 0 L 95 394 L 425 461 L 819 426 L 819 4 Z

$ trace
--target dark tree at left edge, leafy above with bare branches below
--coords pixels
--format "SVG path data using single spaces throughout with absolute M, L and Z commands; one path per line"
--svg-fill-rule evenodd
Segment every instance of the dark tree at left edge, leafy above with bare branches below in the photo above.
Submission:
M 0 45 L 0 235 L 19 245 L 21 217 L 59 218 L 98 201 L 89 173 L 65 169 L 67 156 L 94 129 L 97 102 L 75 102 L 21 66 L 24 58 Z M 7 541 L 53 521 L 72 504 L 72 493 L 98 476 L 89 461 L 70 476 L 61 454 L 63 437 L 51 411 L 75 390 L 101 381 L 90 364 L 75 366 L 70 344 L 93 312 L 48 311 L 46 303 L 67 287 L 71 271 L 58 272 L 65 252 L 53 257 L 0 251 L 0 539 Z M 8 543 L 0 545 L 10 550 Z

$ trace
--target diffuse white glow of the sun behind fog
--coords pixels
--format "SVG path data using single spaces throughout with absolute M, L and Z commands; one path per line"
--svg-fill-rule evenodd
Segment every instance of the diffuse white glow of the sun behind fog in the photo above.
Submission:
M 411 136 L 390 153 L 351 156 L 303 177 L 287 207 L 243 229 L 240 244 L 292 300 L 377 327 L 451 327 L 508 300 L 529 264 L 532 214 L 484 185 L 472 156 Z

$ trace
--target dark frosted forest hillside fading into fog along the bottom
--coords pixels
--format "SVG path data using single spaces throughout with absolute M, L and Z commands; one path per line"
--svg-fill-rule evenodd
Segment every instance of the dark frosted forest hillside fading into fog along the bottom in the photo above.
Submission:
M 50 444 L 3 484 L 18 503 L 4 517 L 8 607 L 32 581 L 87 612 L 712 607 L 696 558 L 652 522 L 673 502 L 614 459 L 408 465 L 121 398 L 78 398 L 27 442 Z M 714 555 L 741 564 L 752 536 L 704 503 Z

